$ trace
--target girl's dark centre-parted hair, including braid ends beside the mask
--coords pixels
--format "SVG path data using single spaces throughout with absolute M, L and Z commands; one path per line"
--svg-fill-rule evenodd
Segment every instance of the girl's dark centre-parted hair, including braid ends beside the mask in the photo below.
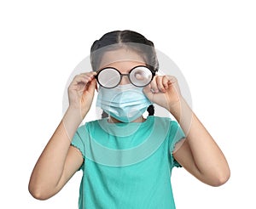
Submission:
M 159 62 L 154 49 L 154 43 L 136 31 L 111 31 L 93 42 L 90 48 L 90 63 L 93 71 L 98 71 L 102 56 L 109 50 L 118 48 L 130 48 L 136 51 L 145 60 L 151 71 L 158 71 Z M 148 106 L 148 116 L 154 115 L 154 106 Z M 108 116 L 102 113 L 102 117 Z

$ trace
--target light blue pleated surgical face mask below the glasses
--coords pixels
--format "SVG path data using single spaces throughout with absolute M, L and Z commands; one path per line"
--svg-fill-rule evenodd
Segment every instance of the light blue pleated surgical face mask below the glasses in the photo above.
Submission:
M 152 104 L 143 93 L 143 88 L 132 84 L 119 85 L 116 88 L 99 88 L 96 106 L 101 107 L 110 116 L 123 122 L 130 122 L 142 116 Z

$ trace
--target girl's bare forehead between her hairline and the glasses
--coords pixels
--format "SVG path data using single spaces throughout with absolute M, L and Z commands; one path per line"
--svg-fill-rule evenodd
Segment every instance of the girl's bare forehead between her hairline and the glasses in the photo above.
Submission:
M 119 48 L 113 51 L 108 51 L 102 56 L 101 68 L 110 65 L 145 65 L 145 60 L 142 55 L 129 48 Z

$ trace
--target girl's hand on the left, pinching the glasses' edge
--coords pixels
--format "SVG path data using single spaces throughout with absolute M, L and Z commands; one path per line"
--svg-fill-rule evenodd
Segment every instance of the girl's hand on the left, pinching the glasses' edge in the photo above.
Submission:
M 84 116 L 90 110 L 95 89 L 96 89 L 96 72 L 90 71 L 81 73 L 73 78 L 68 87 L 69 108 L 79 110 L 80 116 Z

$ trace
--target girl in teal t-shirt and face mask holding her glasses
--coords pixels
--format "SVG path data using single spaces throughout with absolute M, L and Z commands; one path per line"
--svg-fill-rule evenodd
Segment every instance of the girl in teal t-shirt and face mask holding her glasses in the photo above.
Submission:
M 67 112 L 33 169 L 33 197 L 55 195 L 81 169 L 79 208 L 175 208 L 172 167 L 212 186 L 230 178 L 222 151 L 177 79 L 156 75 L 153 42 L 135 31 L 112 31 L 93 43 L 90 61 L 93 71 L 73 78 Z M 95 90 L 103 118 L 79 127 Z M 153 104 L 177 121 L 154 116 Z

